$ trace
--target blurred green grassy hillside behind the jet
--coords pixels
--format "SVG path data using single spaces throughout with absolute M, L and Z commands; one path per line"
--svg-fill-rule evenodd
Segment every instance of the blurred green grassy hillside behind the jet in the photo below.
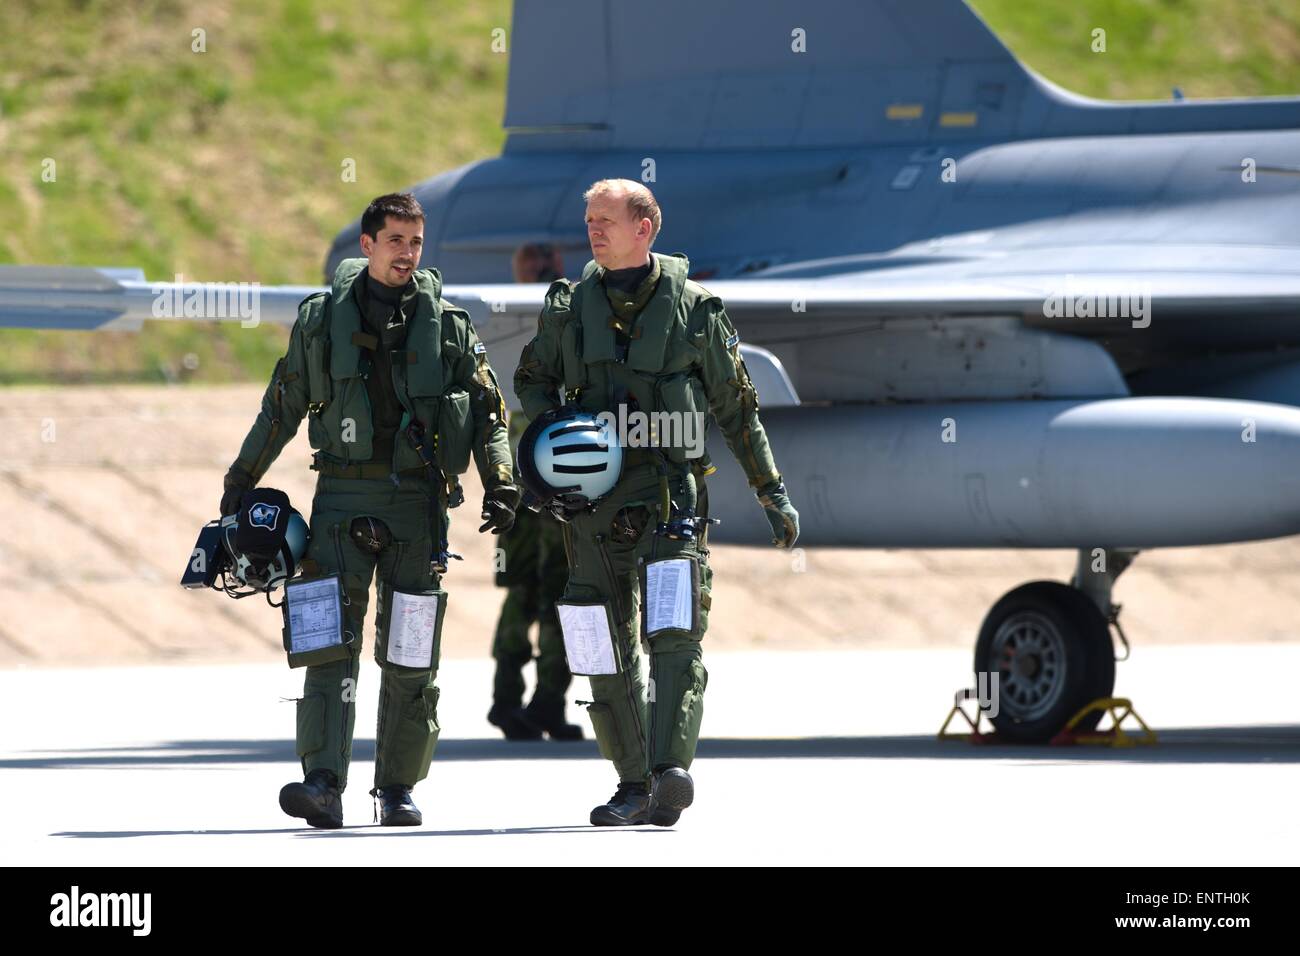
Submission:
M 974 5 L 1030 65 L 1093 96 L 1300 92 L 1295 0 Z M 213 7 L 0 4 L 0 261 L 315 282 L 367 199 L 500 148 L 507 56 L 491 31 L 508 30 L 510 0 Z M 0 382 L 261 380 L 283 338 L 0 332 Z

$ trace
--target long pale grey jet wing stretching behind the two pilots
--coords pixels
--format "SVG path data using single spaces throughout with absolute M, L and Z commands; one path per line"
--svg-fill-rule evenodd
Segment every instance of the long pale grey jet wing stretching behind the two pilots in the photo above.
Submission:
M 484 329 L 534 321 L 545 284 L 448 284 L 443 295 Z M 1300 261 L 1291 250 L 1252 246 L 1060 247 L 989 255 L 848 256 L 707 281 L 746 337 L 758 325 L 805 319 L 858 321 L 914 316 L 1018 316 L 1048 328 L 1110 334 L 1117 325 L 1191 315 L 1300 315 Z M 298 303 L 324 286 L 150 282 L 138 269 L 0 265 L 0 326 L 136 329 L 146 319 L 291 324 Z M 1123 303 L 1145 315 L 1115 312 Z M 1069 302 L 1067 302 L 1069 300 Z M 221 315 L 211 306 L 221 303 Z M 192 307 L 191 307 L 192 306 Z M 1134 308 L 1135 307 L 1135 308 Z M 1122 310 L 1119 310 L 1122 311 Z M 1122 321 L 1115 321 L 1115 320 Z M 759 333 L 755 336 L 755 333 Z

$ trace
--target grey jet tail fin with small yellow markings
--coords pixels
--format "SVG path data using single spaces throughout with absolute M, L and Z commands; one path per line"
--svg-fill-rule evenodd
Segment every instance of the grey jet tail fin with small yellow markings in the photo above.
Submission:
M 1291 98 L 1076 96 L 1017 60 L 963 0 L 517 0 L 511 36 L 506 152 L 861 147 L 1300 122 L 1300 99 Z

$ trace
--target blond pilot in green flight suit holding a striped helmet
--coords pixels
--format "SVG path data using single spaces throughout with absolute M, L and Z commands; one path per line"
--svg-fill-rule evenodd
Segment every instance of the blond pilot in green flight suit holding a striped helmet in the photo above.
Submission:
M 585 199 L 594 263 L 580 282 L 559 280 L 547 290 L 537 336 L 515 372 L 524 414 L 536 418 L 562 401 L 597 415 L 616 415 L 619 406 L 697 415 L 701 421 L 711 414 L 755 490 L 774 544 L 793 548 L 798 512 L 772 460 L 758 397 L 722 300 L 686 278 L 684 256 L 650 252 L 660 213 L 644 185 L 606 179 Z M 671 532 L 682 527 L 675 519 L 707 515 L 703 479 L 712 467 L 706 455 L 688 455 L 684 445 L 625 447 L 615 489 L 564 528 L 564 601 L 608 602 L 623 665 L 618 674 L 590 678 L 592 726 L 601 753 L 619 773 L 615 795 L 592 810 L 597 826 L 671 826 L 694 799 L 686 771 L 708 679 L 699 643 L 708 624 L 712 571 L 702 522 L 694 523 L 694 535 Z M 689 630 L 650 635 L 647 683 L 637 627 L 644 601 L 638 562 L 668 557 L 696 564 L 698 610 Z

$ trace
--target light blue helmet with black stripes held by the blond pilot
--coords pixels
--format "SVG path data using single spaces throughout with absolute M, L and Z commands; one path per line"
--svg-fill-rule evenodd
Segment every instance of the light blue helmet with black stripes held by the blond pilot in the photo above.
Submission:
M 519 473 L 543 502 L 594 505 L 623 475 L 623 446 L 608 423 L 572 406 L 538 415 L 519 440 Z

